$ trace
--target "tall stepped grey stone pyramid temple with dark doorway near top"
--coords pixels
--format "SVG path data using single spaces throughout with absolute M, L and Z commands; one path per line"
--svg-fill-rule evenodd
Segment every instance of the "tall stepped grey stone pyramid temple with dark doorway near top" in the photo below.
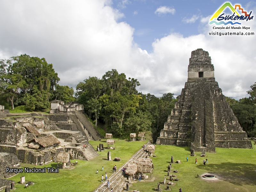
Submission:
M 191 146 L 195 151 L 218 148 L 252 148 L 214 78 L 209 53 L 191 52 L 188 82 L 178 96 L 156 144 Z

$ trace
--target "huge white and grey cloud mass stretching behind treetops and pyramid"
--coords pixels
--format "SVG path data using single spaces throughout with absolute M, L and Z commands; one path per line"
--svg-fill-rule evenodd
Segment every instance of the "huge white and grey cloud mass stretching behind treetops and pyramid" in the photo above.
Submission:
M 102 0 L 1 1 L 0 59 L 25 53 L 44 57 L 59 74 L 60 84 L 70 87 L 115 68 L 137 78 L 140 92 L 160 97 L 166 92 L 180 94 L 191 51 L 203 48 L 212 58 L 225 96 L 245 97 L 256 81 L 255 36 L 210 36 L 212 26 L 205 21 L 201 34 L 167 34 L 156 39 L 153 52 L 148 53 L 133 42 L 138 31 L 117 22 L 121 16 Z M 255 33 L 251 23 L 246 32 Z

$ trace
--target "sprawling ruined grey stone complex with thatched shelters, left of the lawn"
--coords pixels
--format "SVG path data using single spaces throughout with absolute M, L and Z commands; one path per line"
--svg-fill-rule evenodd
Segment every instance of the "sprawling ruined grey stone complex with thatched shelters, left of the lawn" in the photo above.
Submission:
M 4 173 L 7 165 L 15 168 L 20 162 L 35 165 L 56 162 L 60 152 L 68 152 L 80 160 L 99 155 L 88 140 L 99 140 L 100 134 L 87 120 L 84 106 L 59 100 L 51 104 L 50 114 L 26 115 L 10 114 L 0 106 L 0 178 L 10 176 Z M 4 163 L 6 159 L 9 164 Z

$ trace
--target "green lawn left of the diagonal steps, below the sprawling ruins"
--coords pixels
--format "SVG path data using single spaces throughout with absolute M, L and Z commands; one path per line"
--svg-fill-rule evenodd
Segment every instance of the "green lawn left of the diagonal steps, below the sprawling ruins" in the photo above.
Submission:
M 101 175 L 107 172 L 108 177 L 112 175 L 112 168 L 116 165 L 119 169 L 127 160 L 129 160 L 132 155 L 138 151 L 141 146 L 148 141 L 136 141 L 127 142 L 125 140 L 115 139 L 116 150 L 111 150 L 111 158 L 120 157 L 120 162 L 108 161 L 108 149 L 99 152 L 99 156 L 90 160 L 82 161 L 77 160 L 78 165 L 76 165 L 72 170 L 62 170 L 59 173 L 19 173 L 10 180 L 14 180 L 16 183 L 20 182 L 20 177 L 25 176 L 26 181 L 32 181 L 35 185 L 30 186 L 28 189 L 24 188 L 24 185 L 16 184 L 15 191 L 35 191 L 35 192 L 89 192 L 93 191 L 100 185 Z M 97 148 L 99 143 L 103 143 L 104 147 L 107 147 L 106 139 L 101 141 L 90 141 L 90 144 L 94 148 Z M 76 160 L 74 160 L 74 163 Z M 29 168 L 43 168 L 43 167 L 53 167 L 56 168 L 56 163 L 47 164 L 44 166 L 34 166 L 29 164 L 21 164 L 22 167 Z M 104 170 L 102 171 L 102 166 Z M 99 170 L 96 174 L 97 169 Z M 47 171 L 47 169 L 46 169 Z

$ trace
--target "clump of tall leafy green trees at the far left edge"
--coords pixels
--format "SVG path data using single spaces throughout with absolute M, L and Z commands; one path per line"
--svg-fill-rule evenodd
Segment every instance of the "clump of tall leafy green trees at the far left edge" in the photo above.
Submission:
M 28 105 L 28 101 L 32 101 L 28 94 L 38 95 L 35 103 L 37 109 L 49 107 L 51 91 L 60 80 L 52 64 L 48 64 L 44 58 L 26 54 L 1 60 L 0 75 L 1 94 L 12 108 L 15 103 Z

